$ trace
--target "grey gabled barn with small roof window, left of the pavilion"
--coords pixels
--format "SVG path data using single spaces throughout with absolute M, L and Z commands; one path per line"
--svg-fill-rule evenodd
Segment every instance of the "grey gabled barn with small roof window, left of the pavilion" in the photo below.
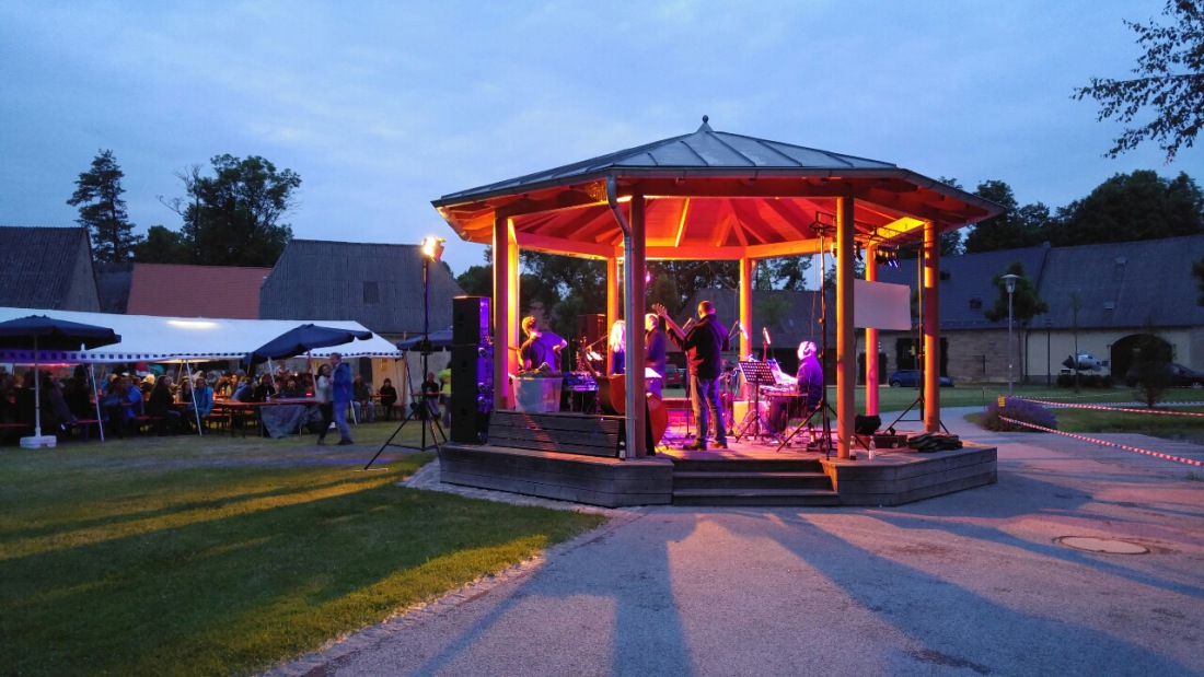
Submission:
M 464 296 L 445 263 L 430 266 L 430 328 L 452 326 Z M 262 319 L 355 320 L 385 334 L 423 331 L 423 253 L 417 244 L 294 239 L 260 291 Z

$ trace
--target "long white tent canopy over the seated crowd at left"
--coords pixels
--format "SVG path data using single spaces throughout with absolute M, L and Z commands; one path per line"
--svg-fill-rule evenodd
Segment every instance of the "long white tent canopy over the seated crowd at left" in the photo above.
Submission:
M 40 362 L 167 362 L 197 360 L 242 360 L 248 352 L 295 328 L 300 323 L 315 322 L 327 327 L 367 332 L 359 322 L 346 320 L 226 320 L 211 317 L 158 317 L 150 315 L 113 315 L 106 313 L 75 313 L 69 310 L 31 310 L 29 308 L 0 308 L 0 322 L 28 315 L 47 315 L 53 319 L 84 325 L 112 327 L 120 334 L 119 343 L 95 350 L 43 350 Z M 331 352 L 342 352 L 344 358 L 388 357 L 400 358 L 402 352 L 386 339 L 373 335 L 344 346 L 323 348 L 313 351 L 314 357 L 326 358 Z M 31 350 L 0 350 L 0 362 L 34 362 Z

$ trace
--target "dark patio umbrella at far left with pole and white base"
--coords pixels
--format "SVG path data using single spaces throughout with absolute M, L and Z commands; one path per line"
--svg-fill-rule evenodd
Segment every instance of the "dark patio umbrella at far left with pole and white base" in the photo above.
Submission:
M 42 438 L 42 379 L 39 373 L 37 351 L 47 350 L 85 350 L 112 345 L 122 340 L 108 327 L 82 325 L 66 320 L 55 320 L 46 315 L 30 315 L 0 322 L 0 348 L 34 350 L 34 437 L 23 438 L 22 446 L 54 446 L 55 438 Z

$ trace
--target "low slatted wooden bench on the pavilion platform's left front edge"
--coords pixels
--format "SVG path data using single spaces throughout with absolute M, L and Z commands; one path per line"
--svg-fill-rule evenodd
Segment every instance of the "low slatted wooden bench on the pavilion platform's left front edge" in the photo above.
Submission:
M 489 444 L 527 451 L 618 457 L 624 446 L 622 426 L 622 416 L 498 410 L 489 416 Z

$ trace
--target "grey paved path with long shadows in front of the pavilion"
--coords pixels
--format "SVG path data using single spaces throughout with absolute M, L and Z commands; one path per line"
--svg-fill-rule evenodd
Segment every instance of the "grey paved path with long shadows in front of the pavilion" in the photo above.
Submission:
M 966 411 L 945 424 L 999 447 L 997 485 L 890 509 L 607 511 L 536 562 L 272 675 L 1204 675 L 1204 471 L 984 433 Z

